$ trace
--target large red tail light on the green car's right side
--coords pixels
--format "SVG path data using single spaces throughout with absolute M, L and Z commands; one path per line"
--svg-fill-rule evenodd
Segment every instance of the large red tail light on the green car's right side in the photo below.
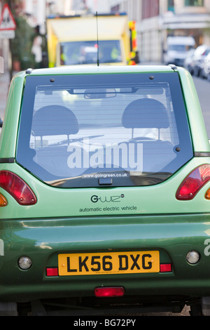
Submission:
M 210 180 L 210 165 L 204 164 L 191 172 L 176 192 L 179 200 L 190 200 Z

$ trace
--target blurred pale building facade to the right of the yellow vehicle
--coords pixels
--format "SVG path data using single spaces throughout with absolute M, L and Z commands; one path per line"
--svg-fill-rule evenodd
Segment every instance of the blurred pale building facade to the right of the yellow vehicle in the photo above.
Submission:
M 210 0 L 109 0 L 111 11 L 126 11 L 137 21 L 142 61 L 162 62 L 168 35 L 195 38 L 210 46 Z

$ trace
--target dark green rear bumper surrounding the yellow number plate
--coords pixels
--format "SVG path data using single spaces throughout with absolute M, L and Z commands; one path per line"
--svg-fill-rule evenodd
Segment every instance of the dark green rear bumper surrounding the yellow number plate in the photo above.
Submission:
M 90 297 L 97 286 L 123 286 L 125 296 L 210 296 L 210 214 L 1 220 L 0 301 Z M 160 251 L 172 272 L 47 277 L 59 253 Z M 200 253 L 190 265 L 189 251 Z M 29 256 L 29 270 L 18 259 Z

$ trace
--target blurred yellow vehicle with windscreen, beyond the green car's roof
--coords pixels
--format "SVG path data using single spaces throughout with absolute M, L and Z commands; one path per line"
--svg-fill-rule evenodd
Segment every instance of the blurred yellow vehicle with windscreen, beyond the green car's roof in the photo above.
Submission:
M 50 16 L 47 19 L 48 66 L 134 65 L 135 22 L 125 13 Z

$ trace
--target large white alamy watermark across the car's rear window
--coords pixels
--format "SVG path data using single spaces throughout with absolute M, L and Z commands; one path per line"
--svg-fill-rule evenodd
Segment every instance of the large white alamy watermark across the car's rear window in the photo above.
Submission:
M 89 138 L 70 143 L 67 164 L 70 169 L 125 169 L 143 171 L 143 143 L 91 144 Z

